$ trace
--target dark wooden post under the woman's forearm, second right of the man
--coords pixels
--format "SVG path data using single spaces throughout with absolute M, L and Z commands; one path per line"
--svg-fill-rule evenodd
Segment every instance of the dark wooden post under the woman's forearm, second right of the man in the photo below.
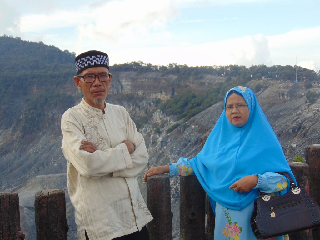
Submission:
M 195 175 L 180 177 L 180 240 L 204 237 L 205 192 Z

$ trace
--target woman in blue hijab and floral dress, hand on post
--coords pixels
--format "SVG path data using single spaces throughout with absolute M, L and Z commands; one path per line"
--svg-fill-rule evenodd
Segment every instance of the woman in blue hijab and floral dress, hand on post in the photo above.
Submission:
M 219 120 L 203 149 L 188 160 L 149 169 L 144 175 L 196 174 L 215 209 L 215 240 L 253 240 L 250 218 L 258 189 L 282 195 L 288 180 L 276 172 L 288 172 L 294 179 L 281 145 L 254 93 L 246 87 L 230 89 L 224 98 Z M 279 236 L 276 240 L 288 240 Z

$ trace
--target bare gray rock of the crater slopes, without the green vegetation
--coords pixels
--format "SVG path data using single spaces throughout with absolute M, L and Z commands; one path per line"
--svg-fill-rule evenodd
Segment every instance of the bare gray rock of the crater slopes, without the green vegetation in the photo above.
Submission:
M 157 80 L 150 80 L 150 78 L 151 76 L 143 76 L 139 81 L 133 81 L 130 74 L 128 76 L 123 74 L 119 77 L 118 82 L 114 82 L 115 89 L 113 91 L 115 92 L 135 93 L 141 91 L 146 93 L 147 99 L 144 102 L 122 103 L 131 116 L 140 116 L 155 109 L 152 100 L 155 98 L 168 99 L 174 92 L 172 88 L 166 87 L 160 76 Z M 210 84 L 210 79 L 206 81 Z M 256 92 L 256 96 L 280 140 L 288 161 L 292 161 L 296 154 L 303 156 L 306 145 L 320 143 L 319 98 L 314 104 L 306 103 L 308 90 L 304 88 L 302 83 L 279 84 L 260 80 L 249 82 L 247 86 L 254 89 L 256 84 L 263 86 L 260 92 Z M 317 86 L 310 90 L 320 94 L 320 88 Z M 78 92 L 75 94 L 79 95 Z M 117 104 L 116 102 L 112 103 Z M 149 163 L 145 171 L 152 166 L 176 162 L 181 156 L 188 158 L 195 156 L 202 148 L 202 136 L 211 132 L 222 109 L 221 99 L 221 102 L 192 117 L 187 122 L 178 121 L 180 126 L 169 134 L 166 134 L 166 130 L 177 122 L 172 116 L 166 116 L 160 110 L 155 111 L 148 123 L 140 129 L 149 152 Z M 59 114 L 62 115 L 62 113 Z M 56 125 L 59 126 L 60 123 L 57 122 Z M 158 130 L 155 131 L 155 128 Z M 69 202 L 66 184 L 66 160 L 60 150 L 62 137 L 59 127 L 55 129 L 53 133 L 51 131 L 42 132 L 34 137 L 34 140 L 25 143 L 24 150 L 19 150 L 19 146 L 14 146 L 12 149 L 18 150 L 2 151 L 4 154 L 0 157 L 2 166 L 0 169 L 0 188 L 1 191 L 19 194 L 21 230 L 26 234 L 26 240 L 35 239 L 34 195 L 39 190 L 49 188 L 59 188 L 67 192 L 68 239 L 77 239 L 74 210 Z M 12 129 L 2 130 L 0 141 L 4 142 L 7 138 L 13 138 L 14 134 Z M 145 171 L 138 176 L 141 192 L 144 196 L 146 196 L 146 185 L 142 176 Z M 173 229 L 174 236 L 177 237 L 179 177 L 171 180 L 171 194 L 172 212 L 174 213 Z

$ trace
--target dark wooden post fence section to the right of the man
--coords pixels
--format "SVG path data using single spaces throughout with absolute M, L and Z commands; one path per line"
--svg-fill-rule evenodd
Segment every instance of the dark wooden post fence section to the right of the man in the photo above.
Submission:
M 311 198 L 320 204 L 320 144 L 305 148 L 305 160 L 306 163 L 291 162 L 289 165 L 298 187 L 305 188 Z M 148 177 L 147 195 L 148 208 L 154 217 L 147 225 L 150 240 L 171 240 L 169 175 Z M 196 176 L 180 177 L 180 240 L 213 239 L 214 221 L 210 203 Z M 320 229 L 296 232 L 290 234 L 289 239 L 318 240 Z

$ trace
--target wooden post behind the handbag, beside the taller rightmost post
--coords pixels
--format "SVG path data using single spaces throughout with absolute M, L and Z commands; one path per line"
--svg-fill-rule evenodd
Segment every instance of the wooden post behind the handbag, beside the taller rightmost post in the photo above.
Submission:
M 289 166 L 296 177 L 299 188 L 306 189 L 309 192 L 309 165 L 306 163 L 290 162 Z M 311 231 L 305 230 L 289 234 L 290 240 L 311 240 Z

